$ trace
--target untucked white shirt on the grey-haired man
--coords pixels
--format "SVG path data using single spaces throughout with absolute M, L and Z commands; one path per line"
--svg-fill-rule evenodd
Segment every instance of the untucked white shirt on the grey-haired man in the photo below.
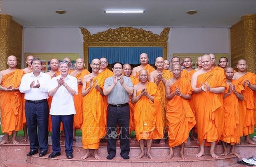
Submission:
M 62 77 L 61 75 L 52 78 L 49 86 L 48 92 L 53 90 L 58 86 L 57 79 Z M 76 77 L 72 77 L 70 75 L 67 75 L 67 77 L 64 79 L 65 83 L 75 90 L 77 95 L 77 79 Z M 55 95 L 52 96 L 52 104 L 50 108 L 50 115 L 54 116 L 65 116 L 65 115 L 71 115 L 76 114 L 75 104 L 73 95 L 69 93 L 68 90 L 62 85 L 59 87 Z

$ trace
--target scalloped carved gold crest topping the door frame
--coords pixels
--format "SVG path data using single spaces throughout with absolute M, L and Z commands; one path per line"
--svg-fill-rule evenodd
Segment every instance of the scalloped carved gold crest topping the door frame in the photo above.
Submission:
M 153 34 L 142 28 L 120 27 L 91 35 L 86 28 L 81 28 L 85 42 L 167 42 L 170 28 L 164 28 L 161 35 Z

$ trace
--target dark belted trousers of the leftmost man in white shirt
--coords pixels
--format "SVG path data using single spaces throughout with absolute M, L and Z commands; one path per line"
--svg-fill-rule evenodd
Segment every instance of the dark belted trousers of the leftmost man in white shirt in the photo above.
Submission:
M 48 103 L 25 103 L 30 150 L 48 150 Z M 38 127 L 38 128 L 37 128 Z

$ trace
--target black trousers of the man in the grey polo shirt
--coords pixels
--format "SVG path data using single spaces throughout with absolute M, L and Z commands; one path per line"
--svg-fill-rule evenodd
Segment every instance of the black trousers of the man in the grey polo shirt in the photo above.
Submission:
M 117 125 L 120 129 L 120 148 L 121 156 L 129 155 L 130 141 L 129 141 L 129 122 L 130 122 L 130 108 L 129 105 L 117 108 L 108 106 L 107 114 L 107 151 L 109 155 L 116 155 L 116 132 Z

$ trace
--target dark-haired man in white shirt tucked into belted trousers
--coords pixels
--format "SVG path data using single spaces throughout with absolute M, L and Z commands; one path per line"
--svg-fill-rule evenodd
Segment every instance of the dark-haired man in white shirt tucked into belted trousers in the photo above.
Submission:
M 38 153 L 38 148 L 40 148 L 39 156 L 42 157 L 48 151 L 47 84 L 51 77 L 41 72 L 42 64 L 39 58 L 33 58 L 31 65 L 33 72 L 22 77 L 19 90 L 21 93 L 25 93 L 26 99 L 25 114 L 30 141 L 30 151 L 27 155 L 32 156 Z

